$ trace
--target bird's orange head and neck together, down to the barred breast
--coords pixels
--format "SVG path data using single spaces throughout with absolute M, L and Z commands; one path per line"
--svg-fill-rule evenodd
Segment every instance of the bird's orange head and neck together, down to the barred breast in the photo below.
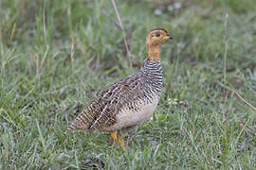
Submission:
M 155 28 L 148 33 L 146 44 L 149 60 L 160 60 L 159 47 L 173 36 L 163 28 Z

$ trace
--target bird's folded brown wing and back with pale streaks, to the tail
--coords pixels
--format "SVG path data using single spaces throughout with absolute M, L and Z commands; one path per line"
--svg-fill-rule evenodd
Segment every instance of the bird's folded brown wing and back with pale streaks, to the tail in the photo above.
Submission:
M 139 94 L 144 85 L 142 82 L 141 72 L 137 72 L 110 85 L 82 110 L 66 132 L 73 129 L 92 131 L 114 126 L 119 110 L 124 106 L 133 106 L 133 101 L 142 97 Z

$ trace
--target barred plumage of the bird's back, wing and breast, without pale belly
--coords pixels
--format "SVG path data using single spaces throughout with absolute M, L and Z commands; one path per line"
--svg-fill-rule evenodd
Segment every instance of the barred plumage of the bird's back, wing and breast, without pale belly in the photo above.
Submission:
M 158 99 L 162 91 L 162 65 L 160 61 L 145 60 L 144 66 L 132 76 L 120 79 L 109 86 L 92 101 L 67 128 L 81 130 L 117 130 L 117 115 L 123 110 L 132 110 L 139 116 L 141 106 Z M 100 113 L 100 114 L 99 114 Z M 137 115 L 138 113 L 138 115 Z M 148 117 L 147 117 L 148 118 Z M 137 126 L 141 121 L 135 123 Z M 127 127 L 125 125 L 120 126 Z

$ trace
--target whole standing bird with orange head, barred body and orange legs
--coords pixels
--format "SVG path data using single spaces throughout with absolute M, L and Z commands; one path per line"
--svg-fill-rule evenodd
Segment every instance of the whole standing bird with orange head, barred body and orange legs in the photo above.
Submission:
M 119 142 L 120 147 L 125 149 L 123 134 L 148 120 L 158 104 L 163 88 L 159 50 L 170 39 L 173 36 L 163 28 L 149 31 L 143 66 L 99 93 L 66 128 L 65 133 L 72 130 L 108 131 L 114 144 Z

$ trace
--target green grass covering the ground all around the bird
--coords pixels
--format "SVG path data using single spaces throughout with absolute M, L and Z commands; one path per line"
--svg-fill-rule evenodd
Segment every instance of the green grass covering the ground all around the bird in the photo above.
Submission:
M 1 1 L 0 169 L 255 169 L 256 112 L 241 97 L 256 106 L 256 4 L 179 3 L 116 1 L 130 67 L 110 1 Z M 97 93 L 139 69 L 155 27 L 174 35 L 161 49 L 164 91 L 127 150 L 103 132 L 65 135 Z

